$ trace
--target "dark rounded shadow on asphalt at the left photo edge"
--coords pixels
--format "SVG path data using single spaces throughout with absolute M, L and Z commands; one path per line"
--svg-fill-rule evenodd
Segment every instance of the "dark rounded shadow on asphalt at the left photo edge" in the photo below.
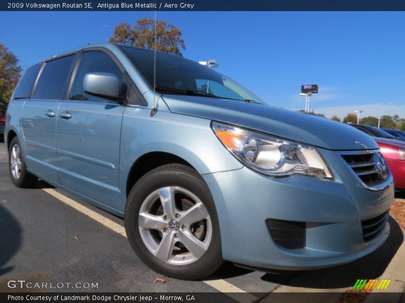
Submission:
M 21 226 L 16 218 L 0 205 L 0 276 L 13 270 L 4 265 L 16 254 L 21 245 Z

